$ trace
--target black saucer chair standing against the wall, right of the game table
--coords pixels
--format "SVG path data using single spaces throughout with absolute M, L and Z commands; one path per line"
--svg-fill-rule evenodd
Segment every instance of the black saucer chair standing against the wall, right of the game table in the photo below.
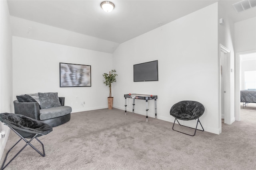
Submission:
M 174 123 L 172 126 L 172 130 L 174 130 L 173 127 L 174 127 L 176 120 L 179 123 L 179 125 L 181 125 L 180 122 L 178 121 L 178 119 L 186 120 L 186 121 L 197 119 L 196 128 L 192 128 L 192 127 L 189 127 L 189 128 L 195 129 L 194 135 L 196 135 L 196 130 L 204 131 L 204 128 L 199 120 L 199 117 L 202 116 L 203 113 L 204 113 L 204 106 L 199 102 L 181 101 L 181 102 L 174 104 L 172 106 L 172 108 L 170 109 L 170 115 L 175 117 L 175 120 L 174 120 Z M 197 129 L 198 122 L 200 123 L 203 130 Z M 184 126 L 184 125 L 181 125 L 181 126 Z M 184 127 L 188 127 L 188 126 L 184 126 Z M 177 131 L 177 130 L 174 130 L 174 131 Z M 177 131 L 177 132 L 184 133 L 181 131 Z M 188 133 L 184 133 L 184 134 L 190 135 Z M 190 135 L 190 136 L 194 136 L 194 135 Z

